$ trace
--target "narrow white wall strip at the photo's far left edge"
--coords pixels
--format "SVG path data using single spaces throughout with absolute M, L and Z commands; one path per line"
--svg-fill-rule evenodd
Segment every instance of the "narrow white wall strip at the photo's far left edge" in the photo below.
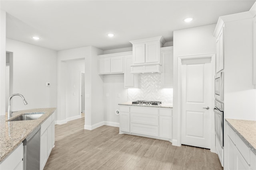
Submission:
M 0 115 L 5 115 L 6 12 L 0 11 Z

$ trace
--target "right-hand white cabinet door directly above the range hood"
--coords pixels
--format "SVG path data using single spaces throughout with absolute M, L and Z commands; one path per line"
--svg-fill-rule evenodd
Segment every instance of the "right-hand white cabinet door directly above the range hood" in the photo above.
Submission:
M 146 63 L 158 63 L 159 62 L 159 41 L 150 41 L 146 43 Z

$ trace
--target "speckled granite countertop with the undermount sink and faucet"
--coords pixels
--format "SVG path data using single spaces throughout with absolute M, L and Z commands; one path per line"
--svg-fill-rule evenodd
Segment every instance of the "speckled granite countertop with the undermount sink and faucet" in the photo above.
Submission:
M 16 149 L 24 139 L 36 127 L 41 125 L 56 108 L 28 109 L 12 113 L 12 118 L 18 117 L 24 113 L 44 112 L 44 114 L 35 120 L 24 121 L 6 121 L 6 115 L 0 116 L 0 161 L 4 160 L 12 150 Z

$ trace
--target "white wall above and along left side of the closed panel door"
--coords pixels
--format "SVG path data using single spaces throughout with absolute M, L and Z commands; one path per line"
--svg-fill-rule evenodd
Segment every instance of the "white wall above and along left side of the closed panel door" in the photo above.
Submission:
M 212 36 L 216 24 L 182 29 L 174 31 L 174 87 L 173 87 L 173 134 L 174 140 L 178 140 L 178 57 L 189 55 L 202 55 L 216 53 L 216 39 Z

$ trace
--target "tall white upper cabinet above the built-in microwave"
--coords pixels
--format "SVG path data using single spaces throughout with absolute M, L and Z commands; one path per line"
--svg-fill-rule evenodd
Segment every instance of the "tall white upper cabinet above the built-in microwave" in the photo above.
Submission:
M 224 27 L 216 38 L 216 73 L 224 69 Z

